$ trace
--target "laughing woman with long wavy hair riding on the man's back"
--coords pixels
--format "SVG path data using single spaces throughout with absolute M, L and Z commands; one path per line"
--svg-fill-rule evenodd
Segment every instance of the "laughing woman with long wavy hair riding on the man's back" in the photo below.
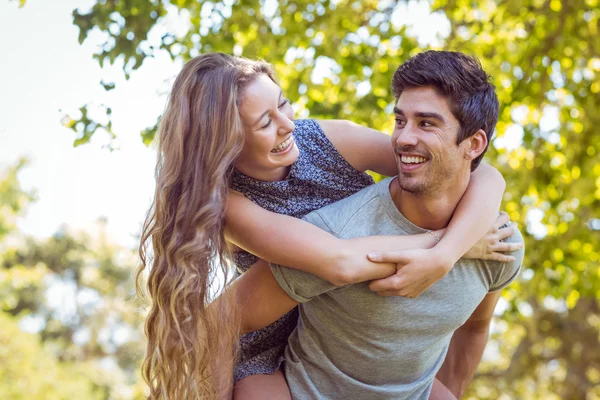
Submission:
M 242 329 L 238 305 L 248 288 L 237 285 L 207 307 L 216 271 L 223 268 L 227 275 L 228 259 L 234 258 L 240 271 L 260 257 L 343 285 L 396 271 L 395 264 L 370 262 L 366 255 L 373 251 L 430 248 L 439 241 L 444 232 L 343 241 L 289 217 L 302 217 L 373 183 L 367 169 L 395 174 L 389 140 L 341 121 L 295 125 L 289 101 L 264 62 L 210 53 L 184 66 L 159 128 L 156 195 L 140 246 L 138 278 L 152 265 L 143 366 L 151 398 L 212 398 L 230 385 L 230 372 L 220 372 L 233 366 Z M 414 296 L 444 276 L 484 235 L 503 190 L 497 171 L 473 174 L 442 241 L 427 257 L 418 253 L 409 260 L 421 268 L 405 277 L 406 294 Z M 482 196 L 490 200 L 474 200 Z M 152 260 L 145 251 L 150 240 Z M 498 243 L 481 248 L 511 250 Z M 281 351 L 295 323 L 292 311 L 242 338 L 235 397 L 286 395 Z

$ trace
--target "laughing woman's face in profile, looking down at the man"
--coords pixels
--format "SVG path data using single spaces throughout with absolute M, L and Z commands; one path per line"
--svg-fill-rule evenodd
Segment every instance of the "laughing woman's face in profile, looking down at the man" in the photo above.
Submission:
M 235 168 L 262 181 L 284 179 L 298 158 L 298 147 L 292 137 L 294 110 L 281 88 L 260 75 L 246 88 L 240 115 L 246 136 Z

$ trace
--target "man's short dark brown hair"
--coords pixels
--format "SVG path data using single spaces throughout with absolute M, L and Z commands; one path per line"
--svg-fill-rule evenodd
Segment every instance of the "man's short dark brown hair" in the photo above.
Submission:
M 490 76 L 474 57 L 452 51 L 426 51 L 405 61 L 392 78 L 396 100 L 406 89 L 433 87 L 449 100 L 450 110 L 460 123 L 456 144 L 483 129 L 488 145 L 498 122 L 498 98 Z M 471 171 L 483 153 L 471 162 Z

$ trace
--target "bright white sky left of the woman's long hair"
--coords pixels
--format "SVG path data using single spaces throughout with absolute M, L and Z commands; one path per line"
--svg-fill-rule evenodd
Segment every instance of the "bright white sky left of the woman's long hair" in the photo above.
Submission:
M 104 216 L 113 239 L 133 246 L 150 204 L 155 162 L 139 132 L 163 110 L 158 92 L 180 67 L 159 57 L 128 82 L 118 68 L 102 74 L 92 59 L 96 45 L 80 46 L 72 24 L 72 10 L 91 4 L 28 0 L 19 9 L 18 2 L 0 2 L 0 168 L 20 156 L 31 160 L 20 180 L 37 190 L 38 201 L 19 223 L 24 232 L 46 237 L 64 223 L 89 228 Z M 99 81 L 107 75 L 117 89 L 106 93 Z M 73 148 L 75 134 L 60 120 L 89 102 L 113 107 L 120 150 L 103 149 L 100 135 Z

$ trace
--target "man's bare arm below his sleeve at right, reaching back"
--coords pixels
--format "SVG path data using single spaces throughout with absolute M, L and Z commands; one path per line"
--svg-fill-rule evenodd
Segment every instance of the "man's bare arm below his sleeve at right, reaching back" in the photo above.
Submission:
M 500 298 L 500 291 L 491 292 L 458 328 L 446 354 L 442 368 L 437 373 L 439 379 L 450 391 L 460 398 L 477 371 L 483 350 L 487 343 L 490 322 L 494 308 Z

